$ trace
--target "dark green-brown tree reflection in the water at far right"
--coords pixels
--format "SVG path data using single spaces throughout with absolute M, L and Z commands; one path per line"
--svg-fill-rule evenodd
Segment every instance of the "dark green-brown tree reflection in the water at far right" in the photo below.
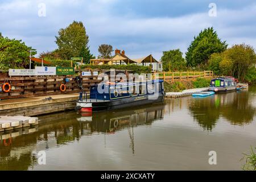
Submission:
M 250 104 L 253 95 L 242 92 L 218 93 L 206 98 L 193 98 L 189 110 L 201 127 L 211 131 L 220 119 L 233 125 L 244 125 L 253 121 L 255 107 Z

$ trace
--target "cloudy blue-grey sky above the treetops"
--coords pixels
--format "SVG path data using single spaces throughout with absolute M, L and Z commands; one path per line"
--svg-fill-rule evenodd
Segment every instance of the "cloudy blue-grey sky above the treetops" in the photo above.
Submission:
M 40 14 L 40 3 L 46 5 L 46 16 Z M 209 16 L 210 3 L 217 5 L 217 16 Z M 56 49 L 57 32 L 73 20 L 84 23 L 96 56 L 100 44 L 124 49 L 131 58 L 152 53 L 160 59 L 163 51 L 176 48 L 185 54 L 193 36 L 210 26 L 229 47 L 256 47 L 253 0 L 0 0 L 0 32 L 22 39 L 38 53 Z

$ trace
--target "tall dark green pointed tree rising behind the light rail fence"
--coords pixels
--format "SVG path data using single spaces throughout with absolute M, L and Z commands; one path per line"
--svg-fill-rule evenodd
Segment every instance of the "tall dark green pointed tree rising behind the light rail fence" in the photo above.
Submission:
M 190 67 L 196 67 L 200 64 L 205 64 L 212 53 L 220 53 L 226 50 L 228 44 L 221 42 L 218 38 L 217 32 L 213 30 L 213 27 L 205 28 L 194 37 L 186 52 L 185 59 L 187 65 Z

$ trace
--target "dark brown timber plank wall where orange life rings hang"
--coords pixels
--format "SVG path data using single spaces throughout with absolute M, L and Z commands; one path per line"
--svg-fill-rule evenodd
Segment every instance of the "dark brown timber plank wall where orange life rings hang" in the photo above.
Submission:
M 67 89 L 61 92 L 60 85 L 65 78 L 68 78 Z M 85 91 L 99 82 L 97 76 L 81 76 L 81 81 Z M 0 86 L 4 82 L 9 82 L 12 88 L 9 93 L 0 92 L 1 100 L 80 92 L 76 76 L 8 76 L 7 73 L 0 73 Z

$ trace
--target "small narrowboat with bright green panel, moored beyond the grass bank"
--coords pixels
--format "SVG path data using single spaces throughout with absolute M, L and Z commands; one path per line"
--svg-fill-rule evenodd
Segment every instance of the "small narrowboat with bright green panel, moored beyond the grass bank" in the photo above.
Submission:
M 236 81 L 232 77 L 218 77 L 210 81 L 209 91 L 227 92 L 237 90 Z

